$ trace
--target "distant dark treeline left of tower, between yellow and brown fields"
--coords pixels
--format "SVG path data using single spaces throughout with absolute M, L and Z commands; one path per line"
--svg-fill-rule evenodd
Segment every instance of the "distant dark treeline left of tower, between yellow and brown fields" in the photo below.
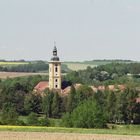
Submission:
M 5 72 L 39 72 L 47 71 L 49 68 L 48 64 L 43 61 L 38 61 L 29 64 L 15 65 L 15 66 L 0 66 L 0 71 Z

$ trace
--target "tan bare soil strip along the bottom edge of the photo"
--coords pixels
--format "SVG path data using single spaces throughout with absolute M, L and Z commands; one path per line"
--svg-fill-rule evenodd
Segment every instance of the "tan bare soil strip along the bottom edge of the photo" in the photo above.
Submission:
M 0 132 L 0 140 L 140 140 L 140 136 L 7 131 Z

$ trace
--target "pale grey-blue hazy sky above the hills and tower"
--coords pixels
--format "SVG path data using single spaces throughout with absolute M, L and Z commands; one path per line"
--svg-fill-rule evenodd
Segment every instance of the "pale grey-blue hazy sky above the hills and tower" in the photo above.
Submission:
M 0 59 L 140 61 L 140 0 L 0 0 Z

